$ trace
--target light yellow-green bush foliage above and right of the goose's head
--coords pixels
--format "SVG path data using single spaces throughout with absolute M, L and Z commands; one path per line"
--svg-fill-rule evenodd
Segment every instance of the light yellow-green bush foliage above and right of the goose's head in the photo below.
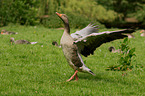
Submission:
M 98 20 L 101 23 L 113 22 L 118 15 L 113 10 L 107 10 L 104 6 L 97 4 L 94 0 L 67 0 L 60 6 L 60 11 Z

